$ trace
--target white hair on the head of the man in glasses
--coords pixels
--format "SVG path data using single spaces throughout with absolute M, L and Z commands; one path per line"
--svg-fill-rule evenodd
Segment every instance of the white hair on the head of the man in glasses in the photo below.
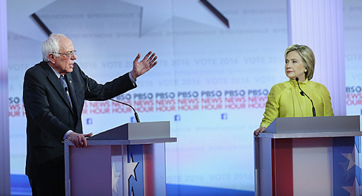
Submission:
M 42 53 L 43 53 L 43 60 L 45 62 L 49 62 L 48 54 L 54 53 L 54 56 L 59 57 L 60 55 L 57 53 L 59 52 L 59 38 L 64 37 L 65 35 L 60 33 L 52 33 L 50 34 L 49 38 L 43 43 L 42 45 Z

